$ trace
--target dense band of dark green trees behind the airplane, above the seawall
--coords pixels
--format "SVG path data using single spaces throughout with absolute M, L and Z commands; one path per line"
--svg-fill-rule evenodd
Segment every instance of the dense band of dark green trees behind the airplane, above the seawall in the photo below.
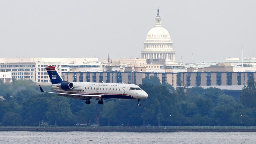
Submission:
M 143 79 L 140 87 L 149 97 L 141 100 L 85 101 L 42 93 L 34 82 L 0 82 L 1 125 L 71 125 L 89 121 L 98 125 L 151 126 L 254 126 L 256 124 L 256 83 L 244 87 L 240 99 L 220 89 L 178 87 L 160 84 L 158 78 Z M 51 86 L 43 86 L 51 91 Z M 44 123 L 42 123 L 44 121 Z

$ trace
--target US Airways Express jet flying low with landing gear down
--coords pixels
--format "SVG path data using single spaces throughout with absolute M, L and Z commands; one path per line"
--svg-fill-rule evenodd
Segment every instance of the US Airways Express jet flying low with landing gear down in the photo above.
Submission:
M 136 84 L 66 82 L 55 67 L 48 66 L 46 71 L 52 82 L 52 89 L 57 91 L 46 93 L 85 100 L 85 104 L 91 104 L 91 99 L 99 100 L 100 105 L 103 104 L 103 100 L 110 98 L 137 99 L 137 106 L 140 107 L 140 100 L 148 98 L 148 94 Z M 39 88 L 41 92 L 44 92 L 41 85 L 39 85 Z

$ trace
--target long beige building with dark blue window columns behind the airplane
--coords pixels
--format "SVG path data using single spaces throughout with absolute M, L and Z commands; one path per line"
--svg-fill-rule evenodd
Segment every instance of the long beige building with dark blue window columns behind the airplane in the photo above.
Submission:
M 226 65 L 225 65 L 226 66 Z M 143 67 L 145 69 L 145 67 Z M 136 70 L 137 69 L 137 70 Z M 231 86 L 247 85 L 251 78 L 256 78 L 256 72 L 233 72 L 233 67 L 188 68 L 188 72 L 173 72 L 164 69 L 162 72 L 144 72 L 141 67 L 126 67 L 124 71 L 106 72 L 67 72 L 63 73 L 64 80 L 70 82 L 104 82 L 142 84 L 142 79 L 150 76 L 159 78 L 160 83 L 172 86 Z M 136 70 L 136 71 L 135 71 Z

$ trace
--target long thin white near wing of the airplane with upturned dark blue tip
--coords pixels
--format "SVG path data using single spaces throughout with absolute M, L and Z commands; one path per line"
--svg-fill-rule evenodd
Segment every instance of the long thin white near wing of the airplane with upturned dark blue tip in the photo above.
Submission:
M 41 92 L 44 92 L 40 84 L 39 84 L 39 88 Z M 102 95 L 96 95 L 96 94 L 91 95 L 91 94 L 75 94 L 75 93 L 63 93 L 63 92 L 45 92 L 45 93 L 54 93 L 54 94 L 58 94 L 59 96 L 75 98 L 79 100 L 86 100 L 88 98 L 100 99 L 102 96 Z

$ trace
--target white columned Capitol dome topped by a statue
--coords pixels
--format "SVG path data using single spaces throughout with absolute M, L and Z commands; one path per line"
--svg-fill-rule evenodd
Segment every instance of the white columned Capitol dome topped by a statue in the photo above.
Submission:
M 169 32 L 161 25 L 159 9 L 157 9 L 156 25 L 149 30 L 144 41 L 141 58 L 165 59 L 166 64 L 175 63 L 175 51 L 172 49 L 172 40 Z

